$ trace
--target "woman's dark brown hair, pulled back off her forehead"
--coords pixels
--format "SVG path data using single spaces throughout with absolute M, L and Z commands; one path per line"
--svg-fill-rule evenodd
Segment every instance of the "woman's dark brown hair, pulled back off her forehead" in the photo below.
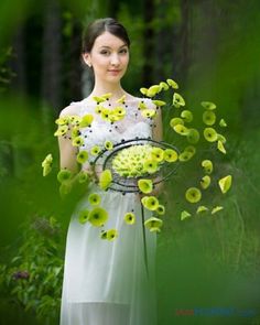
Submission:
M 89 53 L 96 39 L 106 31 L 121 39 L 130 47 L 130 40 L 124 26 L 113 18 L 102 18 L 95 20 L 84 30 L 82 52 Z

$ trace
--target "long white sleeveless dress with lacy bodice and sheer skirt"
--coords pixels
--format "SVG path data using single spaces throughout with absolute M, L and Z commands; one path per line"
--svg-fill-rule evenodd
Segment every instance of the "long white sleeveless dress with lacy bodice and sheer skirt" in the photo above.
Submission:
M 86 128 L 83 144 L 90 151 L 123 140 L 152 136 L 151 120 L 138 110 L 140 98 L 126 104 L 126 117 L 110 124 L 96 112 L 96 104 L 87 98 L 72 102 L 80 116 L 93 113 L 91 128 Z M 150 99 L 145 100 L 152 105 Z M 143 230 L 140 198 L 137 194 L 101 192 L 91 185 L 91 192 L 101 193 L 101 207 L 108 214 L 106 228 L 118 230 L 112 241 L 100 239 L 100 229 L 78 221 L 78 212 L 89 207 L 87 196 L 77 205 L 68 227 L 61 307 L 61 325 L 155 325 L 155 249 L 156 234 L 145 229 L 148 272 L 144 262 Z M 95 187 L 96 186 L 96 187 Z M 123 220 L 132 212 L 136 223 Z M 144 218 L 151 217 L 149 212 Z

